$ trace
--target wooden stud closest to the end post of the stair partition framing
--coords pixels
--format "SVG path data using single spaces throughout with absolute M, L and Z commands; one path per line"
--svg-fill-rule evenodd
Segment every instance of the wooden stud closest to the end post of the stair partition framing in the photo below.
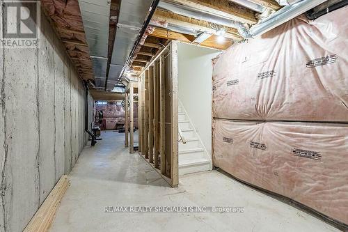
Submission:
M 164 54 L 162 54 L 159 58 L 159 93 L 160 93 L 160 167 L 161 174 L 166 173 L 166 73 L 164 70 Z

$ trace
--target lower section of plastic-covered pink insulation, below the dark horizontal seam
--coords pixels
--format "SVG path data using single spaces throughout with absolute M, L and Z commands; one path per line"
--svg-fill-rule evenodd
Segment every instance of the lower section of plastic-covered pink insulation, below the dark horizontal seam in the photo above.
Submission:
M 213 122 L 214 166 L 348 224 L 348 125 Z

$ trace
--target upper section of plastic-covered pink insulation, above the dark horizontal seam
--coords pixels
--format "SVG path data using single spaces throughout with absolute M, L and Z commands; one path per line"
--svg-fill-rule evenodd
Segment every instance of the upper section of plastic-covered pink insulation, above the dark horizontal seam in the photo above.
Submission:
M 213 116 L 348 122 L 346 14 L 301 15 L 230 47 L 214 61 Z

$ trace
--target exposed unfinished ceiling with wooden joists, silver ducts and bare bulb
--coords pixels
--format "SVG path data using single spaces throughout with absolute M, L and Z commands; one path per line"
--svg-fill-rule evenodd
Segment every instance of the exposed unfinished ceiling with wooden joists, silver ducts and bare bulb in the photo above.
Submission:
M 260 23 L 286 10 L 305 10 L 303 0 L 42 0 L 82 79 L 111 91 L 136 75 L 171 40 L 227 49 L 255 36 Z M 303 6 L 300 6 L 303 5 Z M 155 7 L 157 6 L 157 7 Z M 80 11 L 81 10 L 81 11 Z M 308 9 L 307 9 L 308 10 Z M 82 14 L 81 14 L 82 13 Z M 303 13 L 303 12 L 302 12 Z M 278 20 L 280 21 L 280 20 Z M 280 23 L 280 22 L 279 22 Z M 256 24 L 256 26 L 255 26 Z M 251 29 L 255 30 L 251 30 Z M 127 75 L 127 78 L 122 78 Z

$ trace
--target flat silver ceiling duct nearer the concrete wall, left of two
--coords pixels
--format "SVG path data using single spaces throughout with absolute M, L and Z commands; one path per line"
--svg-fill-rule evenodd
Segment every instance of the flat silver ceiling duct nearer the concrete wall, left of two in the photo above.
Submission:
M 84 31 L 93 63 L 93 75 L 96 87 L 101 87 L 106 80 L 109 45 L 110 1 L 79 0 Z

